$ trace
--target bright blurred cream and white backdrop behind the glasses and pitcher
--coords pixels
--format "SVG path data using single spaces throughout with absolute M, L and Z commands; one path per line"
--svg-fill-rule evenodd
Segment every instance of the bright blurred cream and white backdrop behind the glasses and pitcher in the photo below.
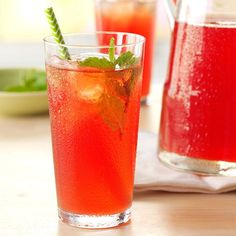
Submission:
M 50 34 L 44 16 L 47 4 L 43 0 L 0 0 L 0 67 L 44 67 L 42 39 Z M 51 5 L 64 33 L 95 30 L 94 0 L 57 0 Z M 162 0 L 157 8 L 153 83 L 162 83 L 170 28 Z

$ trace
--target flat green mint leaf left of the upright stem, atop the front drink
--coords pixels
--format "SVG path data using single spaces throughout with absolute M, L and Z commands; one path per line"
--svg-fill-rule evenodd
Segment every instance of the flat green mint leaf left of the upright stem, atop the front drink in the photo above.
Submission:
M 113 69 L 114 64 L 105 57 L 88 57 L 83 61 L 79 62 L 82 67 L 94 67 L 98 69 Z

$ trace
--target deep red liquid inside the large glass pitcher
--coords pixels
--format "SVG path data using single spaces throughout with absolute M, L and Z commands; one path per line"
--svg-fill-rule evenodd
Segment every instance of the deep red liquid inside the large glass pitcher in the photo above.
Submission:
M 160 157 L 169 153 L 236 162 L 235 42 L 235 25 L 176 23 L 163 95 Z

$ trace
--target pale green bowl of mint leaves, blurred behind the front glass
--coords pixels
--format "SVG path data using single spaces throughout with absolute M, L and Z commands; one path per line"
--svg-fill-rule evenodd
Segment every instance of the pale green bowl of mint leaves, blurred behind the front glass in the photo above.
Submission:
M 35 68 L 0 69 L 0 116 L 48 112 L 46 74 Z

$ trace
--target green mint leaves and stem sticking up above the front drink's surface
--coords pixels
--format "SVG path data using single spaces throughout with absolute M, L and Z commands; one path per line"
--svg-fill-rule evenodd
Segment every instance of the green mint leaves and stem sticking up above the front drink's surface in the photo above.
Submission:
M 115 57 L 115 39 L 110 39 L 108 49 L 109 59 L 106 57 L 88 57 L 79 62 L 81 67 L 94 67 L 98 69 L 115 69 L 117 66 L 119 69 L 129 68 L 138 62 L 138 59 L 131 51 L 123 52 L 116 59 Z

